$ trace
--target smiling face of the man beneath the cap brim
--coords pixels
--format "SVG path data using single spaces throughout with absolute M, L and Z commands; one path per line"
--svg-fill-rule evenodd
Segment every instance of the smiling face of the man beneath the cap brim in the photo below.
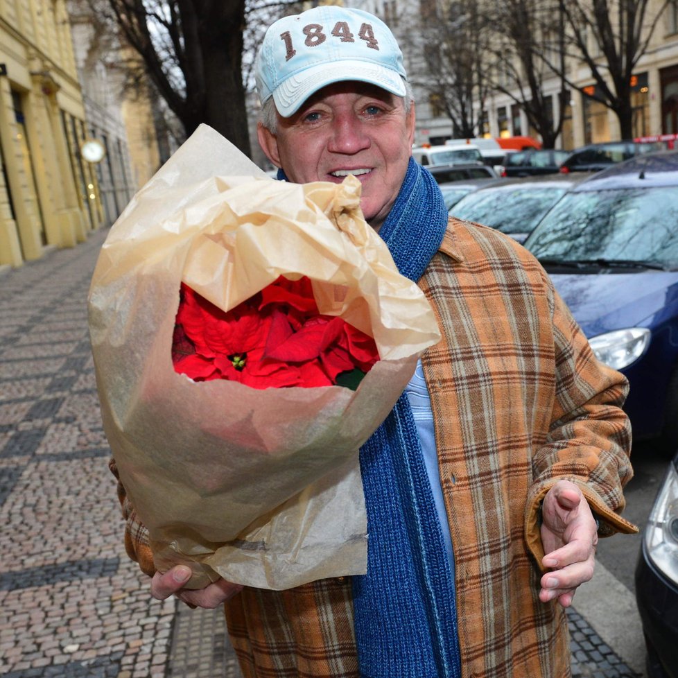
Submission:
M 353 174 L 363 184 L 360 207 L 379 229 L 405 178 L 415 130 L 414 107 L 365 82 L 338 82 L 308 98 L 276 134 L 259 126 L 268 158 L 297 184 L 340 184 Z

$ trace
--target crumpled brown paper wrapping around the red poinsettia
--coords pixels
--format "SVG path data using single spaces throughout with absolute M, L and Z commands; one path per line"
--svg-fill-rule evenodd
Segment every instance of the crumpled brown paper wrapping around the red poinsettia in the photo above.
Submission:
M 157 567 L 268 589 L 365 573 L 358 449 L 440 340 L 359 207 L 360 183 L 263 175 L 202 125 L 110 230 L 89 292 L 105 432 Z M 256 390 L 177 374 L 181 281 L 225 311 L 306 275 L 321 313 L 374 336 L 356 392 Z

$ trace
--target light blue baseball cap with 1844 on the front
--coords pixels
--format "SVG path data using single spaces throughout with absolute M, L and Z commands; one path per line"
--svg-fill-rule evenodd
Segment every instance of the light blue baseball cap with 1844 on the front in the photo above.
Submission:
M 271 24 L 255 73 L 261 103 L 272 96 L 284 118 L 333 82 L 359 80 L 397 96 L 406 92 L 403 53 L 390 28 L 369 12 L 333 5 Z

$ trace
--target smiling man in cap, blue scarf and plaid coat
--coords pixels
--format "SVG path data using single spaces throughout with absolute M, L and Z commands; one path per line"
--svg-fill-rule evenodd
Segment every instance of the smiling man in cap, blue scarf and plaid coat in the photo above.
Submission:
M 618 515 L 632 476 L 625 379 L 596 361 L 528 252 L 448 219 L 410 159 L 415 109 L 379 19 L 326 6 L 277 21 L 257 85 L 280 178 L 358 177 L 366 220 L 444 338 L 360 451 L 367 575 L 189 591 L 177 566 L 154 574 L 153 596 L 227 601 L 248 678 L 565 678 L 564 608 L 591 579 L 598 534 L 635 530 Z M 125 510 L 128 550 L 153 573 Z

